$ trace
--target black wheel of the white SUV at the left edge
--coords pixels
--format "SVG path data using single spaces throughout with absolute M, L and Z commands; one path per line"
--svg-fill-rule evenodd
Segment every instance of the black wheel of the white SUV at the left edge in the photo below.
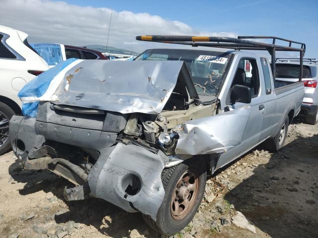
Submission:
M 0 102 L 0 155 L 7 152 L 11 143 L 9 136 L 9 120 L 15 115 L 14 111 L 4 103 Z

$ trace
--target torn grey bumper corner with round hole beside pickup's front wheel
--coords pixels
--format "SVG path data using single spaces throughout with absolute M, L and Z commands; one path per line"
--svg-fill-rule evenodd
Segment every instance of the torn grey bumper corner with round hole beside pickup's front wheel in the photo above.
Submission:
M 161 172 L 167 162 L 168 158 L 161 151 L 155 154 L 137 145 L 118 143 L 101 154 L 88 174 L 90 195 L 127 212 L 140 211 L 156 220 L 164 197 Z M 141 182 L 135 195 L 127 190 L 130 176 Z

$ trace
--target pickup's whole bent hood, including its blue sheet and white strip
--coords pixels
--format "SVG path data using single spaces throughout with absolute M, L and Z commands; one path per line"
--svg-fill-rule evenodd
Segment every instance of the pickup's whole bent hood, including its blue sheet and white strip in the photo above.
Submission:
M 174 88 L 198 99 L 183 61 L 69 59 L 38 75 L 18 96 L 23 115 L 29 117 L 36 116 L 41 101 L 123 114 L 159 114 Z

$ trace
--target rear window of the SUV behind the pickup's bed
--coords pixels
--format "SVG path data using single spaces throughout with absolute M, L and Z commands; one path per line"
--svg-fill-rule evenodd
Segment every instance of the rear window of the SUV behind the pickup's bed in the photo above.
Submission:
M 300 65 L 276 63 L 276 78 L 299 78 Z M 311 78 L 310 67 L 304 65 L 303 78 Z

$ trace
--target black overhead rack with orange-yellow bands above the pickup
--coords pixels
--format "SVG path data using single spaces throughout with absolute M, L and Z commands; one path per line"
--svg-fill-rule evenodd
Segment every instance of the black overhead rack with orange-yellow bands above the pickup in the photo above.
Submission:
M 272 44 L 263 43 L 258 41 L 251 41 L 246 39 L 271 39 Z M 272 73 L 275 80 L 276 74 L 276 51 L 294 51 L 300 52 L 300 80 L 303 77 L 303 57 L 306 51 L 306 44 L 287 40 L 276 36 L 238 36 L 238 38 L 232 37 L 216 37 L 216 36 L 164 36 L 164 35 L 147 35 L 137 36 L 136 40 L 139 41 L 152 41 L 168 44 L 189 45 L 192 47 L 205 46 L 215 48 L 225 48 L 234 50 L 258 50 L 268 51 L 272 59 Z M 281 46 L 276 44 L 276 40 L 287 42 L 288 46 Z M 293 47 L 292 47 L 293 45 Z M 296 45 L 296 46 L 294 46 Z M 298 46 L 298 47 L 297 47 Z

